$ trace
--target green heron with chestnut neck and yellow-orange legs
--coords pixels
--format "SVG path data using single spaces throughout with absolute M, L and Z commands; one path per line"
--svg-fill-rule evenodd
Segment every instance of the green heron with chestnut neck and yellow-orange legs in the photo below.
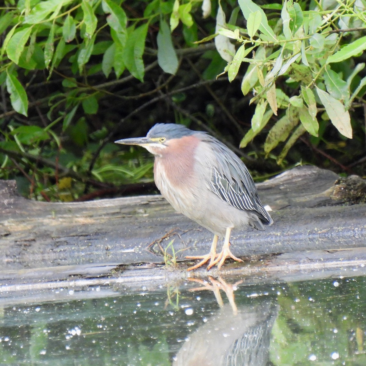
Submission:
M 146 137 L 116 141 L 139 145 L 154 154 L 154 180 L 161 195 L 173 208 L 214 234 L 210 253 L 186 257 L 201 259 L 188 268 L 210 261 L 207 269 L 225 259 L 236 258 L 229 249 L 233 228 L 250 226 L 264 230 L 273 220 L 258 198 L 247 167 L 227 146 L 206 132 L 181 124 L 157 123 Z M 217 239 L 225 238 L 221 253 Z

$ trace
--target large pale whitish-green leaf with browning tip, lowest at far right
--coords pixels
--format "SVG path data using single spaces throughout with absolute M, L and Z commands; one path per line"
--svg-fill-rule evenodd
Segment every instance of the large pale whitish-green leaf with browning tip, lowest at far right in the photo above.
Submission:
M 328 114 L 333 125 L 344 136 L 352 138 L 352 127 L 350 113 L 345 110 L 344 105 L 333 98 L 326 91 L 317 88 L 318 97 L 325 107 L 325 111 Z

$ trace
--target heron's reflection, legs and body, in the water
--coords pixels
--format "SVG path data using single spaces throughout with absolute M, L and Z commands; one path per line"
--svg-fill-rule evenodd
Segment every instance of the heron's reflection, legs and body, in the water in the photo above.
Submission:
M 272 326 L 279 306 L 271 299 L 256 299 L 255 305 L 237 307 L 234 285 L 209 278 L 212 285 L 195 280 L 211 289 L 220 309 L 184 342 L 174 358 L 173 366 L 266 366 Z M 241 281 L 240 281 L 241 282 Z M 228 296 L 224 304 L 220 289 Z

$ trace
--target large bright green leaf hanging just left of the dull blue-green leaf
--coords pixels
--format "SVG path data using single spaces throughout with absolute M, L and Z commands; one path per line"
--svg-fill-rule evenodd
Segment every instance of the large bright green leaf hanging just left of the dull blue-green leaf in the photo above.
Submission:
M 140 81 L 143 81 L 143 76 L 145 74 L 142 55 L 145 49 L 145 39 L 148 27 L 149 24 L 145 23 L 133 30 L 127 38 L 126 47 L 123 52 L 123 61 L 128 71 Z

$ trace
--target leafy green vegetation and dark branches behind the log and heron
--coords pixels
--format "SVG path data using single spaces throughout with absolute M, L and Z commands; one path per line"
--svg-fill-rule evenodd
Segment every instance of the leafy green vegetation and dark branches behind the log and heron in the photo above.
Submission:
M 209 131 L 259 179 L 298 163 L 365 176 L 365 9 L 5 0 L 0 179 L 46 200 L 153 190 L 152 157 L 113 141 L 156 122 Z

